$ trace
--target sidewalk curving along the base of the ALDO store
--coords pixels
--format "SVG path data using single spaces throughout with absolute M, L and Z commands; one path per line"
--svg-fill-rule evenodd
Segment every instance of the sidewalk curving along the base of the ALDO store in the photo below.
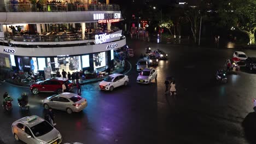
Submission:
M 131 63 L 126 61 L 126 65 L 127 65 L 127 68 L 124 69 L 124 68 L 120 68 L 120 69 L 116 69 L 114 71 L 112 71 L 112 74 L 126 74 L 130 71 L 131 69 Z M 98 82 L 98 81 L 102 81 L 103 79 L 105 79 L 108 75 L 106 76 L 102 76 L 102 77 L 97 77 L 95 79 L 89 79 L 89 80 L 83 80 L 81 82 L 81 85 L 85 85 L 85 84 L 88 84 L 88 83 L 94 83 L 94 82 Z M 13 85 L 16 85 L 16 86 L 21 86 L 21 87 L 30 87 L 34 82 L 30 82 L 30 83 L 18 83 L 18 82 L 15 82 L 13 81 L 13 79 L 2 79 L 1 81 L 3 82 L 8 82 L 8 83 L 11 83 Z

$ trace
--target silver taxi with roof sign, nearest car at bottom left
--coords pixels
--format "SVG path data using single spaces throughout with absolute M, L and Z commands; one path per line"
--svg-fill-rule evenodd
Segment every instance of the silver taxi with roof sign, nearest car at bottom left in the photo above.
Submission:
M 11 131 L 16 141 L 25 143 L 59 144 L 62 141 L 60 132 L 53 125 L 35 115 L 18 119 L 11 124 Z

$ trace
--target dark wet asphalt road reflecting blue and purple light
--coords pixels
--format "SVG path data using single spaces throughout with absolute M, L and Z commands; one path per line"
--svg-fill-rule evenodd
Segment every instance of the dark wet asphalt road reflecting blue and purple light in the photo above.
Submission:
M 241 122 L 252 111 L 255 74 L 238 71 L 228 83 L 216 83 L 216 70 L 224 67 L 234 49 L 208 49 L 142 41 L 127 41 L 135 50 L 127 87 L 113 92 L 98 89 L 98 83 L 84 85 L 82 97 L 88 107 L 71 115 L 55 112 L 56 128 L 65 142 L 82 143 L 248 143 Z M 155 67 L 158 79 L 151 85 L 136 83 L 136 62 L 146 46 L 168 53 Z M 256 51 L 245 50 L 248 56 Z M 177 97 L 165 95 L 164 81 L 174 76 Z M 0 110 L 0 143 L 18 143 L 11 135 L 11 123 L 21 117 L 43 117 L 40 101 L 51 94 L 32 95 L 28 88 L 1 82 L 0 94 L 14 97 L 13 111 Z M 21 92 L 30 94 L 29 111 L 20 110 Z M 2 96 L 1 96 L 2 99 Z

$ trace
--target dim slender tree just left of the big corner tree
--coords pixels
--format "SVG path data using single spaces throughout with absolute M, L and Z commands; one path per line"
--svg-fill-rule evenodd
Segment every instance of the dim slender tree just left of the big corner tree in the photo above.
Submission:
M 190 22 L 194 43 L 196 43 L 196 37 L 199 31 L 200 18 L 201 18 L 200 9 L 197 7 L 190 7 L 188 8 L 187 11 L 185 11 L 185 15 L 187 16 L 187 19 Z

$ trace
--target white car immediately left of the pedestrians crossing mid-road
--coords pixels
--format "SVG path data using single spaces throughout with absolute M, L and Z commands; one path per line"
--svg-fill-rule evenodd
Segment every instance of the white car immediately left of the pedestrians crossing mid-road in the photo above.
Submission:
M 144 69 L 139 73 L 137 77 L 137 82 L 138 83 L 151 83 L 154 79 L 158 77 L 158 71 L 155 69 Z

